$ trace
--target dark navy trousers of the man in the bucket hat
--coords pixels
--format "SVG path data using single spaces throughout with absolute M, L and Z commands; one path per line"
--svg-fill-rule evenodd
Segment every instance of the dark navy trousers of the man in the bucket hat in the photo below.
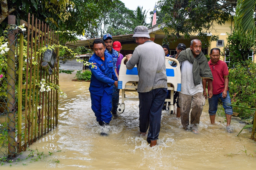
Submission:
M 147 142 L 158 139 L 161 127 L 162 107 L 167 94 L 166 88 L 154 89 L 149 92 L 139 93 L 140 132 L 147 132 Z

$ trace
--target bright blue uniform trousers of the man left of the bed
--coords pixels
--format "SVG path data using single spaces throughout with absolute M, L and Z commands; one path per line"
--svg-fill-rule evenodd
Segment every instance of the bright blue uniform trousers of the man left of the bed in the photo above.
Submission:
M 112 94 L 108 95 L 103 92 L 103 96 L 94 95 L 91 93 L 92 110 L 96 116 L 97 122 L 109 123 L 112 119 L 110 113 L 112 109 Z

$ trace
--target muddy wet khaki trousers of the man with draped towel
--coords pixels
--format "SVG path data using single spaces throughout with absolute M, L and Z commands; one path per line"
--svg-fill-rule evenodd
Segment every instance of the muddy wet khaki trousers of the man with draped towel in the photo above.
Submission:
M 205 98 L 202 92 L 195 95 L 186 95 L 179 93 L 180 119 L 184 129 L 188 129 L 189 112 L 191 111 L 190 124 L 195 127 L 200 122 L 200 116 L 205 105 Z

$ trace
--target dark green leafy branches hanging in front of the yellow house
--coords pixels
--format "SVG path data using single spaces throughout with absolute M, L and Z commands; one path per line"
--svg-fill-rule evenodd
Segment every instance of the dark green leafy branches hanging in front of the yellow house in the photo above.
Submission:
M 215 22 L 222 25 L 232 21 L 236 0 L 160 0 L 158 6 L 165 14 L 165 25 L 161 27 L 166 35 L 164 42 L 168 43 L 171 38 L 176 41 L 181 34 L 190 39 L 190 35 L 196 33 L 206 47 L 208 37 L 210 41 L 218 40 L 217 35 L 211 35 Z

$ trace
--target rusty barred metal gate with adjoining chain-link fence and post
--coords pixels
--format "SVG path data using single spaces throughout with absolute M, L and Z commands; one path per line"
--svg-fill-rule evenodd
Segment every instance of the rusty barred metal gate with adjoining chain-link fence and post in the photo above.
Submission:
M 56 59 L 51 75 L 41 66 L 44 54 L 40 50 L 59 45 L 59 35 L 30 14 L 28 22 L 20 20 L 26 31 L 15 21 L 15 16 L 8 16 L 9 50 L 0 47 L 8 50 L 5 55 L 0 49 L 1 158 L 15 157 L 58 124 L 59 48 L 53 50 Z

